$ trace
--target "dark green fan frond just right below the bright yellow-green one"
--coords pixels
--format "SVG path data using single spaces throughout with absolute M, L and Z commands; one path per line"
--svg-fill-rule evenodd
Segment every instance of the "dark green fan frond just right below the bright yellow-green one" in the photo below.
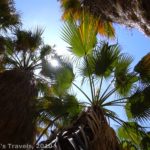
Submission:
M 87 55 L 87 60 L 83 60 L 80 74 L 88 77 L 96 75 L 99 77 L 109 77 L 112 73 L 120 55 L 120 48 L 117 44 L 109 45 L 101 42 L 91 55 Z

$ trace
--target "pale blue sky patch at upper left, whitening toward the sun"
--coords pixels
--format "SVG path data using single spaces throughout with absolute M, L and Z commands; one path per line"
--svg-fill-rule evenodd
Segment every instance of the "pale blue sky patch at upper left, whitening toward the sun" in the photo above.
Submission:
M 23 27 L 42 27 L 45 43 L 51 46 L 55 44 L 59 54 L 64 54 L 65 42 L 60 38 L 61 10 L 57 0 L 15 0 L 15 3 L 21 13 Z

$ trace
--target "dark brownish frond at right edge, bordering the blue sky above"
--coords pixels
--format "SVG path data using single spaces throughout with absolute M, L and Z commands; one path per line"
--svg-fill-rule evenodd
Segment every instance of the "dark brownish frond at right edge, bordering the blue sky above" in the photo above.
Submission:
M 134 69 L 139 73 L 142 81 L 150 83 L 150 53 L 145 55 Z

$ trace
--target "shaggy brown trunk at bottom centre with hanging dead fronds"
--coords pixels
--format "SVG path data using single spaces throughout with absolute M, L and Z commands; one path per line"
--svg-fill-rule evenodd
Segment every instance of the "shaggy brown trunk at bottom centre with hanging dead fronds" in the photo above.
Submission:
M 52 150 L 119 150 L 116 134 L 98 106 L 87 108 L 73 125 L 57 133 L 51 143 L 44 143 Z

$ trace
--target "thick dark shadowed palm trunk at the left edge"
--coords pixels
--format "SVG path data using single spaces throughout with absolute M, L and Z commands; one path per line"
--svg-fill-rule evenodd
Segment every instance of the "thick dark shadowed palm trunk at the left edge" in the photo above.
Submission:
M 37 95 L 32 73 L 18 69 L 0 73 L 0 143 L 32 144 Z

